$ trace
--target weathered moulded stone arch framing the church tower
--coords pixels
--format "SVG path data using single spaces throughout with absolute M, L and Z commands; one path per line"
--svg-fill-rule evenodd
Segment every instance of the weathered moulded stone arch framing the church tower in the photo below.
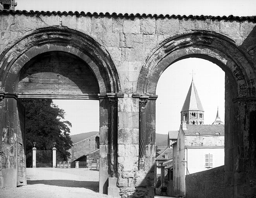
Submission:
M 142 65 L 137 92 L 155 94 L 162 72 L 172 63 L 184 58 L 209 60 L 227 74 L 237 97 L 249 97 L 254 79 L 252 62 L 231 39 L 209 31 L 185 31 L 156 46 Z

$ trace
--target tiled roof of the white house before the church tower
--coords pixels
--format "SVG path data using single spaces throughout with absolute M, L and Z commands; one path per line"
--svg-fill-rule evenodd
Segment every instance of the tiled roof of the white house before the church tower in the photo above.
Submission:
M 220 133 L 220 135 L 225 135 L 224 131 L 225 125 L 187 125 L 187 130 L 184 130 L 185 135 L 216 135 L 215 133 Z

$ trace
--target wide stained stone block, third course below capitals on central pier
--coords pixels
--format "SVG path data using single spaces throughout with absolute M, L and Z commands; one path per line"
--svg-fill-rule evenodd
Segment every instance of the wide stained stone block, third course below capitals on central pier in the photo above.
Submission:
M 117 135 L 118 144 L 138 144 L 139 129 L 138 128 L 119 128 Z

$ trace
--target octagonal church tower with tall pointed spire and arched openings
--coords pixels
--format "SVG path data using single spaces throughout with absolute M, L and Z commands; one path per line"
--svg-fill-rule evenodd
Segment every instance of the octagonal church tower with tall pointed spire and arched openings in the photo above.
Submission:
M 180 114 L 181 122 L 184 119 L 187 122 L 187 125 L 204 124 L 204 109 L 199 99 L 193 79 Z

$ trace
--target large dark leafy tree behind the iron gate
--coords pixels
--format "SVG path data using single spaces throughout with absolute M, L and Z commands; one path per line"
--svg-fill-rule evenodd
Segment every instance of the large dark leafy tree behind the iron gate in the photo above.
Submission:
M 56 160 L 66 161 L 70 156 L 67 150 L 72 147 L 69 137 L 72 125 L 69 121 L 62 121 L 64 110 L 51 99 L 23 99 L 22 104 L 26 108 L 27 167 L 32 161 L 32 145 L 28 142 L 36 142 L 36 148 L 40 150 L 50 150 L 56 142 Z

